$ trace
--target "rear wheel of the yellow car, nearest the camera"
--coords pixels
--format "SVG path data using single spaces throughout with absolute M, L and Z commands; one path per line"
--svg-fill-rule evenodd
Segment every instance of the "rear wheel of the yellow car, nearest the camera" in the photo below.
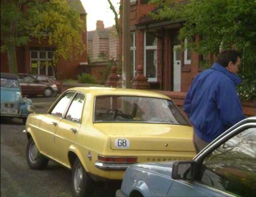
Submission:
M 89 194 L 94 188 L 94 181 L 85 171 L 78 158 L 76 158 L 76 161 L 72 167 L 72 184 L 74 196 L 76 197 L 90 196 Z

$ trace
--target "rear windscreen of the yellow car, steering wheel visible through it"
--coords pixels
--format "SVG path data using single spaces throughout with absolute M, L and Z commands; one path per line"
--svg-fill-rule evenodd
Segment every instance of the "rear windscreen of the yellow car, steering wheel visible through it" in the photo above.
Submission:
M 161 98 L 134 96 L 96 97 L 94 122 L 141 122 L 189 125 L 173 101 Z

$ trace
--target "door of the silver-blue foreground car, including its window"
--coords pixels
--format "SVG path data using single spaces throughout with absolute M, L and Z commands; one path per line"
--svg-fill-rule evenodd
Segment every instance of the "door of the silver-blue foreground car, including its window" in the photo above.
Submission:
M 198 157 L 195 180 L 175 180 L 168 196 L 254 196 L 256 124 L 238 127 L 212 147 Z

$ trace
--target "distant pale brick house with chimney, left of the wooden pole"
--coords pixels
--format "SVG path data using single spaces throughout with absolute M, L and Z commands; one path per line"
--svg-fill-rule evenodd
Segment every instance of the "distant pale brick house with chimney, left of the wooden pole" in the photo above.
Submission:
M 96 22 L 96 30 L 87 32 L 87 56 L 89 61 L 108 61 L 111 57 L 119 59 L 119 39 L 114 27 L 104 27 L 103 21 Z

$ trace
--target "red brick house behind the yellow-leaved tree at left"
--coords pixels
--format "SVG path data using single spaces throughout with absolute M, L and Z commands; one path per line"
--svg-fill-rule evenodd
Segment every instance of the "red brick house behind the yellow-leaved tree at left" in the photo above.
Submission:
M 82 39 L 86 44 L 86 15 L 85 9 L 80 0 L 68 0 L 70 6 L 75 8 L 80 13 L 80 18 L 83 21 L 85 32 L 82 32 Z M 58 73 L 54 73 L 52 66 L 47 66 L 46 62 L 51 62 L 51 55 L 54 48 L 48 45 L 47 40 L 38 42 L 37 39 L 31 38 L 31 41 L 25 46 L 16 47 L 17 68 L 20 73 L 27 74 L 47 74 L 57 77 L 58 80 L 73 78 L 76 79 L 79 73 L 79 65 L 87 63 L 87 51 L 84 51 L 80 57 L 76 59 L 67 59 L 60 57 L 58 61 Z M 7 53 L 1 53 L 1 72 L 9 72 L 7 63 Z

